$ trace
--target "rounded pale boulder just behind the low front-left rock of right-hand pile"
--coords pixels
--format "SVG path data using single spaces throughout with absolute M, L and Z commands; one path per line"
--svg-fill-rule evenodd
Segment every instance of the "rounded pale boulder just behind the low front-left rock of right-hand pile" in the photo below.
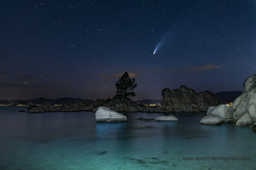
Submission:
M 224 119 L 229 119 L 229 118 L 233 118 L 233 113 L 234 113 L 234 109 L 232 108 L 232 106 L 227 106 L 227 105 L 218 105 L 213 111 L 212 111 L 212 115 L 215 116 L 220 116 L 221 118 Z

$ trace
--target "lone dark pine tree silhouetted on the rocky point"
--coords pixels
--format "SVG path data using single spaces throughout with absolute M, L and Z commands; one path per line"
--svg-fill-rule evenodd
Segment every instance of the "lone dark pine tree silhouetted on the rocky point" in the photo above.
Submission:
M 116 93 L 117 96 L 127 97 L 127 96 L 136 96 L 132 91 L 136 88 L 135 78 L 130 79 L 127 72 L 125 72 L 122 77 L 116 82 Z

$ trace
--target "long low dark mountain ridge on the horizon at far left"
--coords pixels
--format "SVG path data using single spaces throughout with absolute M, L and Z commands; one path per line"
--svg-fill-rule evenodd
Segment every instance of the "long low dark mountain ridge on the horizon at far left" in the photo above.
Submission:
M 75 103 L 77 100 L 81 100 L 84 102 L 94 102 L 94 100 L 90 99 L 81 99 L 81 98 L 72 98 L 72 97 L 63 97 L 59 99 L 47 99 L 44 97 L 39 97 L 36 99 L 31 99 L 31 101 L 35 104 L 41 104 L 42 102 L 48 102 L 48 103 L 53 103 L 53 104 L 63 104 L 65 102 L 68 103 Z M 0 100 L 0 104 L 23 104 L 26 105 L 29 100 Z

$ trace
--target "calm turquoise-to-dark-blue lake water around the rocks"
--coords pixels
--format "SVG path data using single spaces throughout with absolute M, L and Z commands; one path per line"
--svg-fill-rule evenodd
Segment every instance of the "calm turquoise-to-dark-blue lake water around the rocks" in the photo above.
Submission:
M 256 133 L 233 124 L 200 125 L 205 113 L 172 113 L 178 122 L 96 123 L 93 112 L 18 112 L 0 107 L 0 170 L 253 170 Z M 134 128 L 145 125 L 145 128 Z M 183 157 L 250 157 L 184 161 Z

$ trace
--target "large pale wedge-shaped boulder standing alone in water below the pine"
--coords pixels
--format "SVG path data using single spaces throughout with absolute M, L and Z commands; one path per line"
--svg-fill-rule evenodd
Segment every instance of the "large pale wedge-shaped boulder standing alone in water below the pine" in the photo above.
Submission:
M 102 106 L 96 111 L 95 117 L 97 122 L 127 122 L 125 115 Z

